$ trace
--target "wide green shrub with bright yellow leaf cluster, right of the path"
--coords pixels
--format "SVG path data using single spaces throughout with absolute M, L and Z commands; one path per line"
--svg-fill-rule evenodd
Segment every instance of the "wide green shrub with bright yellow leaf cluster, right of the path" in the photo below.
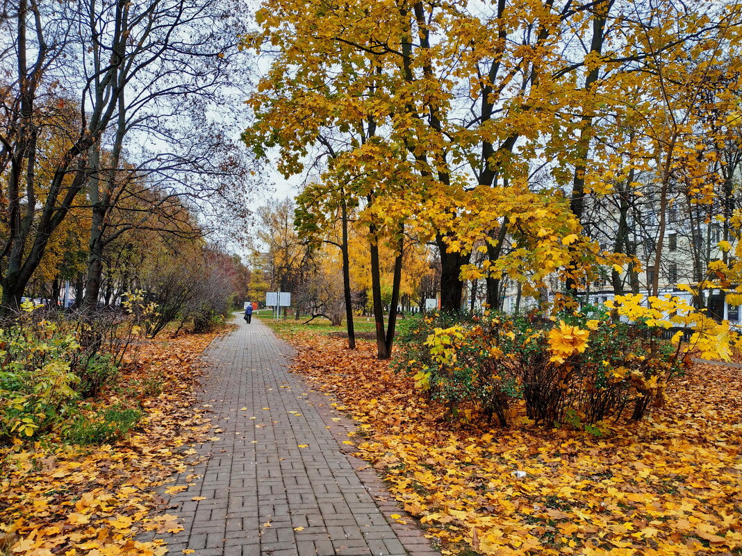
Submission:
M 679 345 L 660 332 L 596 308 L 551 319 L 487 314 L 458 323 L 428 315 L 403 325 L 396 365 L 453 417 L 464 407 L 505 426 L 510 404 L 522 398 L 536 423 L 595 434 L 596 423 L 618 419 L 631 406 L 631 417 L 641 419 L 683 371 Z

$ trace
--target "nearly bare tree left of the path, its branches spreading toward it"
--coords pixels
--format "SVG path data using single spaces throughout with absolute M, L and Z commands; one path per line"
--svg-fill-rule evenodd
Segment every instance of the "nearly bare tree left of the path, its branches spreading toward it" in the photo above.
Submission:
M 115 10 L 114 4 L 108 10 Z M 116 79 L 108 81 L 102 72 L 108 42 L 113 41 L 107 20 L 101 17 L 81 27 L 79 36 L 81 44 L 90 44 L 91 64 L 84 67 L 83 77 L 94 84 L 91 92 L 116 98 L 116 119 L 88 156 L 92 222 L 85 295 L 91 307 L 99 300 L 108 243 L 149 225 L 151 214 L 173 197 L 200 199 L 202 205 L 211 202 L 225 211 L 234 191 L 245 191 L 251 175 L 245 156 L 234 150 L 228 138 L 228 128 L 220 129 L 205 116 L 225 105 L 221 92 L 239 86 L 246 75 L 232 69 L 237 54 L 232 3 L 142 0 L 128 4 L 121 25 L 125 35 L 136 37 L 131 43 L 136 45 L 119 45 L 120 56 L 128 62 Z M 139 147 L 146 142 L 158 147 Z M 160 194 L 150 212 L 131 211 L 127 197 L 142 196 L 153 187 L 167 194 Z M 115 226 L 109 217 L 114 210 L 118 213 Z M 243 209 L 240 213 L 246 216 Z

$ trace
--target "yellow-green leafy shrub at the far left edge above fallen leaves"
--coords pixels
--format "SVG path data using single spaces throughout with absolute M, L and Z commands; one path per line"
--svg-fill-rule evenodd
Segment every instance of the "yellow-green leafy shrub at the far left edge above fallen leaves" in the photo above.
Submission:
M 24 303 L 0 328 L 0 443 L 56 430 L 118 374 L 141 329 L 132 317 L 97 318 Z

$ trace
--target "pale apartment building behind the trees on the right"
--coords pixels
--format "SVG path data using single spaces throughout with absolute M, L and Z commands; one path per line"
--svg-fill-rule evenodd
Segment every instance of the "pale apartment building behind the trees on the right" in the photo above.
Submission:
M 628 199 L 628 202 L 627 202 Z M 680 291 L 678 284 L 697 284 L 707 279 L 709 263 L 723 260 L 725 255 L 719 242 L 725 239 L 723 213 L 719 205 L 690 203 L 680 192 L 671 192 L 665 211 L 665 230 L 660 244 L 660 202 L 651 184 L 638 192 L 628 192 L 621 198 L 595 196 L 585 206 L 583 224 L 585 233 L 600 243 L 602 251 L 623 252 L 634 255 L 641 268 L 631 273 L 625 266 L 619 276 L 623 293 L 632 291 L 648 294 L 654 281 L 655 259 L 660 250 L 658 285 L 659 294 L 672 294 L 688 302 L 702 303 L 709 314 L 738 324 L 741 311 L 737 305 L 728 305 L 723 294 L 717 290 L 705 291 L 703 299 L 692 299 L 692 295 Z M 726 239 L 729 239 L 727 236 Z M 731 241 L 730 241 L 731 243 Z M 601 269 L 600 277 L 594 279 L 580 292 L 586 304 L 599 304 L 612 299 L 617 291 L 613 283 L 612 269 Z M 542 297 L 553 299 L 554 292 L 564 288 L 556 278 L 548 284 Z M 508 284 L 502 292 L 502 309 L 514 312 L 538 305 L 538 300 L 519 296 L 515 284 Z

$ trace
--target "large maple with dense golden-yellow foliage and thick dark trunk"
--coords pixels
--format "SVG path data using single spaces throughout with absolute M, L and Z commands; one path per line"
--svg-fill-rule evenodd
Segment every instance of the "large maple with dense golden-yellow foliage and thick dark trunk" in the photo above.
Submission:
M 378 191 L 361 218 L 393 214 L 404 222 L 414 214 L 409 223 L 416 234 L 439 246 L 441 305 L 458 311 L 460 271 L 473 243 L 486 237 L 494 263 L 510 229 L 524 228 L 518 222 L 523 208 L 502 206 L 500 199 L 519 196 L 525 206 L 553 199 L 553 188 L 530 191 L 531 159 L 555 128 L 555 102 L 564 104 L 565 91 L 575 89 L 568 86 L 570 71 L 559 74 L 574 65 L 563 43 L 565 33 L 593 16 L 590 7 L 547 2 L 526 12 L 503 1 L 490 14 L 453 4 L 369 7 L 347 1 L 343 9 L 312 4 L 308 16 L 287 1 L 259 16 L 263 33 L 246 44 L 270 41 L 280 56 L 252 106 L 260 124 L 272 122 L 275 129 L 283 122 L 275 132 L 265 126 L 262 144 L 280 145 L 283 168 L 301 171 L 309 145 L 321 130 L 333 130 L 330 136 L 344 147 L 335 149 L 344 154 L 334 168 L 344 176 L 376 178 Z M 513 33 L 512 45 L 505 41 L 510 27 L 524 30 L 522 38 Z M 319 38 L 317 28 L 324 30 Z M 321 89 L 312 86 L 319 83 Z M 306 114 L 312 114 L 309 126 Z M 302 119 L 304 132 L 289 136 L 295 118 Z M 248 139 L 254 141 L 260 124 Z M 342 139 L 334 130 L 355 130 L 357 137 Z M 404 188 L 395 188 L 393 177 L 401 177 Z M 396 234 L 396 224 L 381 225 Z M 553 225 L 557 234 L 534 234 L 531 241 L 546 238 L 562 251 L 560 237 L 570 235 L 570 226 Z M 496 291 L 499 270 L 491 267 L 480 271 Z

